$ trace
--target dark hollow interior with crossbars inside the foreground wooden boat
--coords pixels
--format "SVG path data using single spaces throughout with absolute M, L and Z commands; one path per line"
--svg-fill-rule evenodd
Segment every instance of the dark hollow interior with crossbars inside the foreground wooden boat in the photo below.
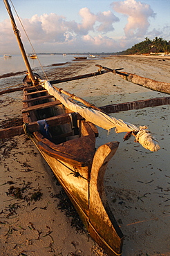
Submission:
M 49 95 L 45 89 L 39 91 L 35 87 L 34 89 L 26 88 L 24 91 L 23 103 L 25 104 L 24 107 L 28 108 L 25 118 L 28 122 L 39 121 L 41 133 L 43 133 L 43 126 L 46 125 L 45 120 L 47 118 L 69 113 L 71 122 L 62 125 L 46 125 L 46 131 L 43 134 L 46 138 L 55 144 L 79 138 L 79 122 L 76 113 L 66 109 L 61 102 Z

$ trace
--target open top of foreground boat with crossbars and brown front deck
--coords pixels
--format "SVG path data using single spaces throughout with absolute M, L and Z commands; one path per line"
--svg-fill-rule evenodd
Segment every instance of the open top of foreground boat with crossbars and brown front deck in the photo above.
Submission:
M 67 161 L 70 159 L 72 163 L 76 161 L 75 165 L 92 163 L 97 128 L 78 113 L 66 109 L 46 89 L 41 86 L 26 87 L 23 90 L 22 112 L 23 122 L 38 123 L 39 131 L 35 131 L 34 136 L 38 146 L 47 154 L 66 158 Z

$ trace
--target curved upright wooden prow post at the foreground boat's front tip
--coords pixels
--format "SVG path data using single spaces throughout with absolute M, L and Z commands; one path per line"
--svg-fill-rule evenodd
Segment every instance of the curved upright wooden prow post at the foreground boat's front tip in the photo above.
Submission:
M 104 174 L 108 162 L 115 154 L 118 145 L 119 142 L 111 142 L 97 149 L 91 167 L 90 181 L 89 233 L 93 238 L 95 237 L 97 244 L 100 244 L 111 256 L 121 255 L 124 235 L 117 225 L 106 200 Z M 96 214 L 98 216 L 97 219 Z

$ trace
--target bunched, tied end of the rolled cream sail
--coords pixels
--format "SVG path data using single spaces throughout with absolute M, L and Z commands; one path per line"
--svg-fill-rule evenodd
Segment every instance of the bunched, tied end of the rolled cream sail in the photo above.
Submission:
M 147 129 L 147 126 L 140 126 L 138 134 L 135 135 L 135 142 L 140 143 L 145 149 L 156 152 L 160 149 L 158 140 Z

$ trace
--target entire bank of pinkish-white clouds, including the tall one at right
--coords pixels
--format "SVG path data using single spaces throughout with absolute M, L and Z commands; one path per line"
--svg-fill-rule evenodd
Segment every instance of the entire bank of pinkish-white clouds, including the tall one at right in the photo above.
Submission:
M 68 21 L 66 17 L 56 13 L 34 15 L 30 19 L 21 19 L 21 21 L 37 52 L 73 52 L 77 49 L 79 52 L 122 51 L 131 47 L 139 39 L 149 37 L 149 18 L 155 17 L 155 13 L 148 4 L 137 0 L 124 0 L 114 1 L 111 6 L 115 12 L 122 13 L 127 17 L 122 36 L 116 35 L 117 31 L 115 31 L 114 24 L 120 19 L 111 10 L 93 13 L 88 8 L 82 8 L 79 10 L 79 17 L 81 18 L 79 22 L 76 20 Z M 18 21 L 17 24 L 21 31 L 23 44 L 28 49 L 26 35 L 24 35 Z M 14 44 L 16 40 L 8 19 L 0 23 L 0 30 L 0 43 L 3 46 L 1 48 L 6 46 L 9 49 L 14 48 L 10 44 Z M 152 30 L 150 35 L 154 35 L 154 33 L 158 35 L 159 31 L 162 35 L 161 30 Z M 117 34 L 121 33 L 118 31 Z M 168 28 L 166 33 L 169 35 Z M 65 50 L 63 50 L 64 48 Z

